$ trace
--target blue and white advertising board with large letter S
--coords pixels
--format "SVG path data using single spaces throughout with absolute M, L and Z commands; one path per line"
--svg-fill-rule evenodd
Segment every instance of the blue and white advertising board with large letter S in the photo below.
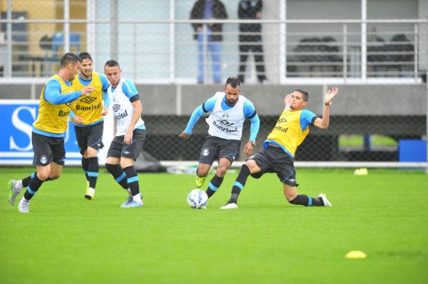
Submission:
M 0 165 L 32 165 L 32 123 L 39 112 L 39 100 L 0 100 Z M 64 136 L 66 165 L 81 161 L 75 128 L 68 122 Z

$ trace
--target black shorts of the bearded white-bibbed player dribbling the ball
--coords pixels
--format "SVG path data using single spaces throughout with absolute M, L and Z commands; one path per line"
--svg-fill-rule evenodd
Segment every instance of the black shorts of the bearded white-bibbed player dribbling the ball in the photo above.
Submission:
M 212 165 L 213 161 L 220 158 L 226 158 L 233 163 L 239 148 L 239 140 L 222 139 L 208 135 L 206 136 L 205 143 L 202 146 L 199 162 Z

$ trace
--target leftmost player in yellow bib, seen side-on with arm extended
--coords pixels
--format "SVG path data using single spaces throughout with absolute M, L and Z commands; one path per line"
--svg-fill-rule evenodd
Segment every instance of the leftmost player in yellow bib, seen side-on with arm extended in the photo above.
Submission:
M 41 90 L 39 113 L 32 124 L 33 164 L 37 171 L 19 181 L 8 182 L 10 203 L 14 205 L 19 192 L 27 187 L 23 198 L 19 201 L 21 213 L 28 213 L 30 199 L 39 190 L 44 181 L 58 179 L 64 161 L 64 132 L 68 126 L 71 101 L 93 92 L 93 87 L 85 87 L 79 91 L 72 88 L 72 80 L 79 70 L 80 62 L 76 54 L 68 52 L 61 58 L 61 69 L 52 76 Z

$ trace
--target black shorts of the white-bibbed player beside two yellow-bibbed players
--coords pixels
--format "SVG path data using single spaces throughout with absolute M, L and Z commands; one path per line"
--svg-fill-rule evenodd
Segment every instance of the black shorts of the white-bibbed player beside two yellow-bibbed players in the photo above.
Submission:
M 130 144 L 124 143 L 124 135 L 116 136 L 108 148 L 107 158 L 125 157 L 137 160 L 138 155 L 143 150 L 144 139 L 146 139 L 146 130 L 135 129 L 133 131 L 133 141 Z

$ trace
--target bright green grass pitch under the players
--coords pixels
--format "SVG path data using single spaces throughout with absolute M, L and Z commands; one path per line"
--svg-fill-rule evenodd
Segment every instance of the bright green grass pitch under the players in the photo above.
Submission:
M 19 214 L 6 182 L 31 168 L 1 168 L 1 283 L 428 283 L 428 175 L 411 170 L 298 169 L 300 193 L 333 207 L 290 205 L 275 174 L 249 179 L 238 210 L 192 210 L 194 176 L 139 174 L 144 208 L 101 170 L 95 200 L 64 169 Z M 210 175 L 211 177 L 211 175 Z M 20 195 L 21 197 L 21 195 Z M 347 259 L 362 250 L 364 259 Z

